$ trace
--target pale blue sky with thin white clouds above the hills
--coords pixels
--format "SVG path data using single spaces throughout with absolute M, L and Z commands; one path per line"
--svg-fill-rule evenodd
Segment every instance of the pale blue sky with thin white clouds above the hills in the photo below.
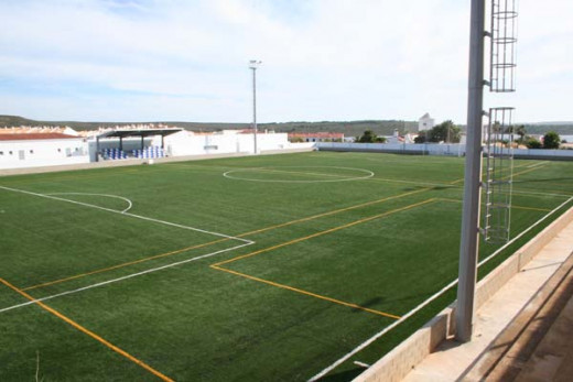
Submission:
M 520 121 L 573 120 L 573 1 L 520 1 Z M 0 114 L 465 122 L 469 0 L 2 0 Z

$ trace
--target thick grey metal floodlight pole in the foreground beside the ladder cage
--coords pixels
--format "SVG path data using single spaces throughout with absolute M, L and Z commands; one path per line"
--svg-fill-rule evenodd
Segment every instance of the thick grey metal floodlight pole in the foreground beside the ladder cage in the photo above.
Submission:
M 463 342 L 472 340 L 474 293 L 479 243 L 484 28 L 485 0 L 472 0 L 464 207 L 462 216 L 462 240 L 460 244 L 460 283 L 457 286 L 457 305 L 455 310 L 456 339 Z

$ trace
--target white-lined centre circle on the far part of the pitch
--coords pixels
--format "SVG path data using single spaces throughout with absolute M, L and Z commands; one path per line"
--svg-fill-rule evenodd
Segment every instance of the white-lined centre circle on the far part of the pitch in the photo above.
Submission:
M 365 168 L 335 166 L 270 166 L 230 170 L 223 176 L 235 181 L 266 183 L 333 183 L 367 179 L 374 173 Z

